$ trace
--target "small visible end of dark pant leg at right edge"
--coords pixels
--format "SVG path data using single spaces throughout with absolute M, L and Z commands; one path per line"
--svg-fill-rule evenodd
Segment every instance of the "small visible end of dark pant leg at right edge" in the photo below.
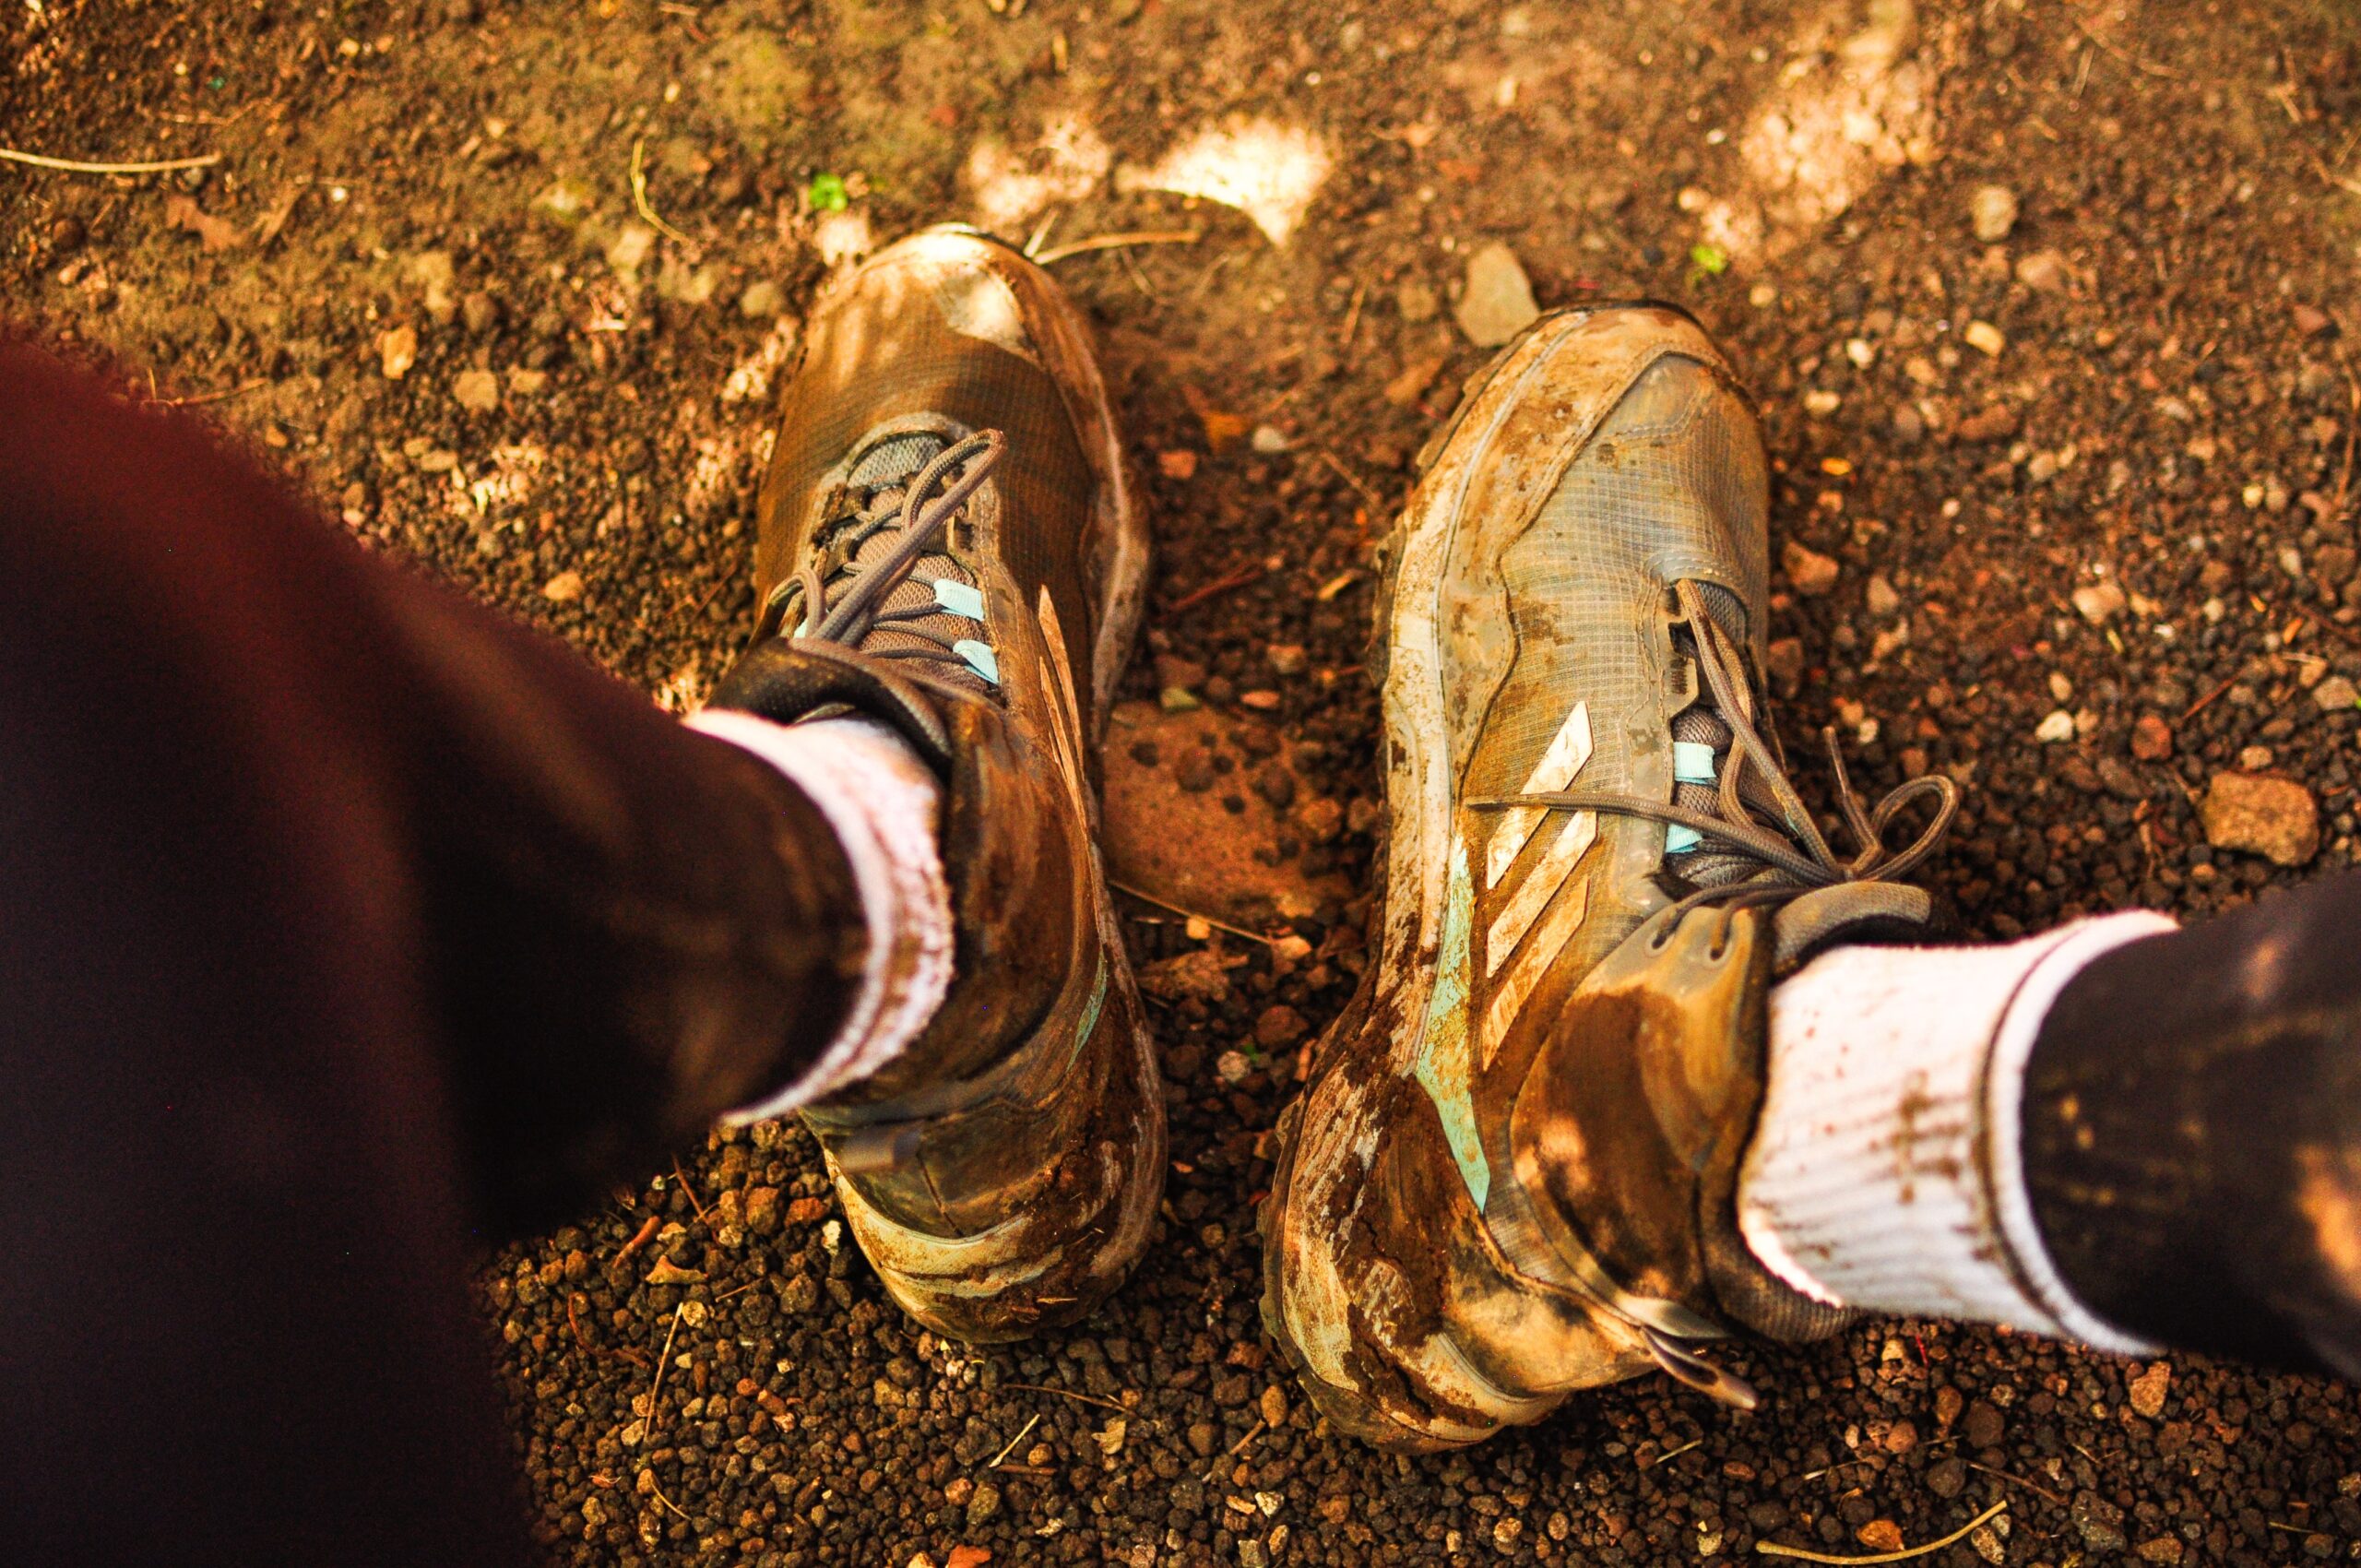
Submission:
M 2361 1377 L 2361 876 L 2075 975 L 2023 1133 L 2042 1240 L 2101 1318 Z

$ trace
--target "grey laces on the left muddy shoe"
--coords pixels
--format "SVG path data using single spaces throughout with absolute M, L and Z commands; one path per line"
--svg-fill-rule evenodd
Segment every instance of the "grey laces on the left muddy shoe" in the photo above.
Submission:
M 1008 451 L 1008 437 L 999 430 L 980 430 L 963 442 L 944 446 L 902 491 L 900 505 L 878 512 L 857 512 L 845 522 L 845 531 L 824 555 L 796 569 L 793 588 L 800 605 L 784 605 L 800 626 L 791 631 L 803 642 L 833 642 L 836 647 L 862 652 L 871 659 L 921 659 L 942 666 L 961 685 L 977 678 L 999 685 L 999 668 L 992 647 L 949 635 L 940 621 L 982 621 L 982 595 L 968 583 L 937 581 L 935 600 L 904 607 L 888 607 L 892 590 L 909 579 L 928 550 L 949 529 L 951 517 L 982 486 Z M 966 472 L 954 472 L 966 463 Z M 937 494 L 940 489 L 940 494 Z M 895 531 L 892 548 L 874 560 L 859 560 L 883 529 Z M 822 567 L 833 560 L 833 567 Z M 831 597 L 833 586 L 833 597 Z M 944 593 L 944 590 L 951 593 Z M 878 640 L 878 631 L 900 633 Z

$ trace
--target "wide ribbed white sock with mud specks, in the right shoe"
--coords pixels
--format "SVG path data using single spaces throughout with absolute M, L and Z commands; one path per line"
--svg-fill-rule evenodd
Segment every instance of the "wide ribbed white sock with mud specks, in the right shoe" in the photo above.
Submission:
M 1771 1072 L 1738 1228 L 1818 1301 L 2149 1351 L 2073 1299 L 2023 1181 L 2026 1058 L 2092 959 L 2149 912 L 2007 947 L 1839 947 L 1771 992 Z

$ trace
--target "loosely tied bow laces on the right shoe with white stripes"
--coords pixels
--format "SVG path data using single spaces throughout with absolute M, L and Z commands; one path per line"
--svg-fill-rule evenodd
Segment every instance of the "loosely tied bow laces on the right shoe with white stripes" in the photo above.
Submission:
M 1851 860 L 1842 860 L 1830 848 L 1827 836 L 1820 834 L 1820 827 L 1811 819 L 1811 810 L 1804 805 L 1794 784 L 1787 782 L 1785 758 L 1780 756 L 1778 744 L 1764 739 L 1757 727 L 1754 682 L 1745 678 L 1742 654 L 1735 642 L 1726 631 L 1721 631 L 1712 614 L 1707 614 L 1705 595 L 1695 583 L 1674 583 L 1674 593 L 1679 595 L 1681 612 L 1688 616 L 1688 628 L 1695 640 L 1693 652 L 1698 668 L 1705 675 L 1712 713 L 1728 727 L 1731 734 L 1714 810 L 1698 810 L 1690 805 L 1603 789 L 1480 796 L 1471 798 L 1469 805 L 1480 810 L 1539 805 L 1646 817 L 1650 822 L 1662 822 L 1665 827 L 1688 829 L 1698 838 L 1719 845 L 1726 855 L 1738 857 L 1740 862 L 1752 862 L 1752 871 L 1742 871 L 1731 881 L 1719 881 L 1716 886 L 1698 888 L 1695 893 L 1681 897 L 1676 907 L 1683 912 L 1700 904 L 1721 904 L 1724 909 L 1780 904 L 1804 893 L 1834 888 L 1839 883 L 1891 883 L 1901 881 L 1919 862 L 1924 862 L 1943 841 L 1943 834 L 1950 831 L 1950 822 L 1960 812 L 1960 786 L 1941 775 L 1927 775 L 1891 789 L 1875 810 L 1868 810 L 1860 793 L 1853 789 L 1851 775 L 1844 770 L 1844 751 L 1837 746 L 1837 732 L 1825 730 L 1823 739 L 1827 741 L 1827 758 L 1837 775 L 1837 803 L 1844 808 L 1844 822 L 1851 829 L 1853 841 L 1860 845 Z M 1905 848 L 1889 850 L 1884 834 L 1894 817 L 1908 810 L 1915 801 L 1929 798 L 1936 803 L 1934 822 L 1929 822 L 1927 829 L 1919 831 L 1919 836 Z M 1771 817 L 1771 822 L 1764 817 Z

